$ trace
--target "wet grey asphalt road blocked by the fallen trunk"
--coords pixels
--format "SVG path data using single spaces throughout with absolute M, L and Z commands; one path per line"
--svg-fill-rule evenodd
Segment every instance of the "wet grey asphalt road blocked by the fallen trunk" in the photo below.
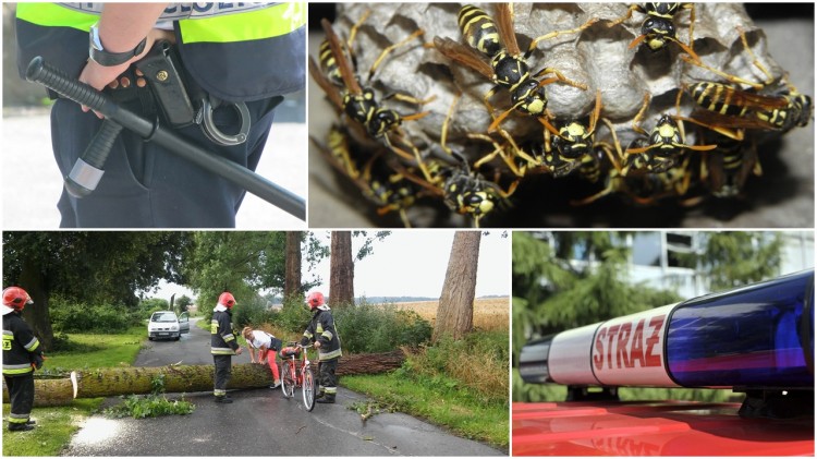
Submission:
M 191 324 L 179 341 L 147 341 L 137 366 L 212 364 L 209 334 Z M 248 363 L 245 352 L 233 364 Z M 365 397 L 338 391 L 336 404 L 304 410 L 280 389 L 233 390 L 232 404 L 210 392 L 187 394 L 196 410 L 185 416 L 111 420 L 88 418 L 62 456 L 502 456 L 503 451 L 452 436 L 401 413 L 366 423 L 349 408 Z M 175 396 L 175 395 L 171 395 Z M 117 402 L 112 398 L 107 403 Z

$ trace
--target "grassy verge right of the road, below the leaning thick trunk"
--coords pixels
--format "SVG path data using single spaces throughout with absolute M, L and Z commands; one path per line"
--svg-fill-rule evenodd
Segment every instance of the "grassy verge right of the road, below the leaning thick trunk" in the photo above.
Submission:
M 464 438 L 509 447 L 508 330 L 475 331 L 413 351 L 403 366 L 378 375 L 343 376 L 381 411 L 400 411 Z

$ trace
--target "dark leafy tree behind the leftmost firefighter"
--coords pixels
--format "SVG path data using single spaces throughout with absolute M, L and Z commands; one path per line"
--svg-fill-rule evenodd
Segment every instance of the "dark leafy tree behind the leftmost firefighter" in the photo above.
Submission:
M 50 299 L 136 306 L 136 292 L 161 279 L 182 282 L 187 233 L 171 231 L 7 231 L 3 285 L 26 289 L 35 301 L 26 321 L 51 347 Z

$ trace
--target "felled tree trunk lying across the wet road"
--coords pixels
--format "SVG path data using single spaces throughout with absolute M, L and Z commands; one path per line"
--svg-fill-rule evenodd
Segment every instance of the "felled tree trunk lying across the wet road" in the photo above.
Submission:
M 339 376 L 374 374 L 399 369 L 405 355 L 402 351 L 345 355 L 338 362 Z M 317 366 L 317 362 L 315 362 Z M 317 369 L 315 369 L 317 372 Z M 198 392 L 212 390 L 212 365 L 169 365 L 149 367 L 112 367 L 71 373 L 71 378 L 36 379 L 35 407 L 71 404 L 74 398 L 113 397 L 150 394 L 153 382 L 163 379 L 166 392 Z M 269 366 L 242 363 L 232 366 L 228 389 L 252 389 L 272 384 Z M 3 387 L 3 402 L 9 395 Z

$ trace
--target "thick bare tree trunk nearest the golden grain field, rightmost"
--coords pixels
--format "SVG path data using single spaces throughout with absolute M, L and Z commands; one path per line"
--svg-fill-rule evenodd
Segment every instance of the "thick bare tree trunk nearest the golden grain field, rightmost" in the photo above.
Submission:
M 479 262 L 479 231 L 458 231 L 451 245 L 431 341 L 443 335 L 460 339 L 474 326 L 474 298 Z

